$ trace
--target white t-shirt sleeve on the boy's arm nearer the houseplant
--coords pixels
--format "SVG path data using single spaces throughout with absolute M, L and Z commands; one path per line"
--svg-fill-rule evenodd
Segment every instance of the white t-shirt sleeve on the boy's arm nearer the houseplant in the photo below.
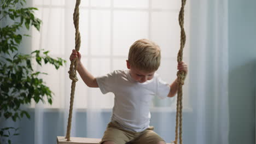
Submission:
M 116 77 L 117 76 L 115 74 L 115 71 L 107 75 L 96 77 L 98 87 L 101 89 L 101 92 L 103 94 L 106 94 L 108 92 L 113 92 L 113 89 L 115 87 Z

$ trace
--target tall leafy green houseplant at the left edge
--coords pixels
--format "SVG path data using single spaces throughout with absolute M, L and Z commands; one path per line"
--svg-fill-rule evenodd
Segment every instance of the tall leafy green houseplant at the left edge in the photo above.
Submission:
M 22 37 L 30 37 L 27 34 L 20 34 L 20 29 L 26 27 L 29 30 L 32 26 L 38 31 L 42 21 L 34 16 L 37 8 L 25 8 L 25 0 L 0 0 L 0 117 L 11 118 L 14 122 L 17 119 L 30 115 L 21 105 L 31 104 L 31 101 L 43 101 L 52 104 L 53 92 L 47 87 L 39 75 L 46 74 L 33 69 L 33 59 L 39 65 L 49 63 L 59 69 L 66 61 L 62 58 L 52 58 L 49 51 L 36 50 L 30 54 L 19 52 Z M 8 21 L 8 23 L 7 23 Z M 4 24 L 5 22 L 5 24 Z M 5 132 L 15 130 L 7 127 L 0 129 L 1 137 L 8 137 Z

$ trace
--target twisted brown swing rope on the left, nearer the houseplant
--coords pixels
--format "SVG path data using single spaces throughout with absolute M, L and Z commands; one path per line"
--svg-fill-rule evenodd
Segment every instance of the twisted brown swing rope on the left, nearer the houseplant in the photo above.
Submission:
M 74 14 L 73 14 L 73 21 L 74 21 L 74 27 L 75 27 L 75 50 L 76 51 L 79 51 L 80 44 L 81 44 L 81 37 L 80 37 L 80 32 L 79 32 L 79 4 L 80 4 L 80 0 L 77 0 L 75 3 L 75 9 L 74 9 Z M 69 115 L 68 115 L 66 139 L 67 139 L 67 141 L 70 141 L 75 82 L 78 81 L 77 58 L 74 58 L 73 61 L 71 62 L 68 73 L 69 73 L 69 79 L 72 80 L 72 85 L 71 85 L 71 97 L 70 97 L 70 105 L 69 105 Z

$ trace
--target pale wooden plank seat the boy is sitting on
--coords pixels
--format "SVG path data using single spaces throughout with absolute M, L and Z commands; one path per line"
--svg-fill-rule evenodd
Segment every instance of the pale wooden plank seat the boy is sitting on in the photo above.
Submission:
M 98 144 L 101 139 L 86 138 L 86 137 L 70 137 L 71 141 L 67 141 L 65 136 L 57 136 L 58 144 Z M 173 143 L 167 143 L 173 144 Z

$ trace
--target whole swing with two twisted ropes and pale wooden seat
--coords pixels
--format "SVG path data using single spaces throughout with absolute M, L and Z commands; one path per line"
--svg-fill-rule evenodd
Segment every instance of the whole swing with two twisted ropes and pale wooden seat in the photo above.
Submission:
M 181 46 L 177 56 L 177 62 L 182 62 L 183 59 L 183 49 L 185 46 L 186 35 L 184 31 L 184 7 L 186 0 L 182 1 L 182 7 L 179 11 L 179 26 L 181 27 Z M 79 4 L 80 0 L 77 0 L 75 3 L 75 9 L 73 14 L 74 26 L 75 26 L 75 50 L 79 51 L 80 49 L 80 32 L 79 32 Z M 77 62 L 76 58 L 70 64 L 69 68 L 69 78 L 72 80 L 71 85 L 71 98 L 70 98 L 70 106 L 69 106 L 69 115 L 68 115 L 68 124 L 67 124 L 67 133 L 65 136 L 57 136 L 57 143 L 58 144 L 96 144 L 101 141 L 101 139 L 93 139 L 93 138 L 86 138 L 86 137 L 70 137 L 71 131 L 71 121 L 72 121 L 72 110 L 73 110 L 73 101 L 74 101 L 74 91 L 75 91 L 75 82 L 78 81 L 77 78 Z M 175 141 L 174 144 L 178 144 L 178 137 L 179 143 L 182 144 L 182 85 L 184 85 L 185 80 L 185 72 L 178 71 L 178 92 L 177 92 L 177 111 L 176 111 L 176 128 L 175 128 Z M 171 144 L 171 143 L 167 143 Z

